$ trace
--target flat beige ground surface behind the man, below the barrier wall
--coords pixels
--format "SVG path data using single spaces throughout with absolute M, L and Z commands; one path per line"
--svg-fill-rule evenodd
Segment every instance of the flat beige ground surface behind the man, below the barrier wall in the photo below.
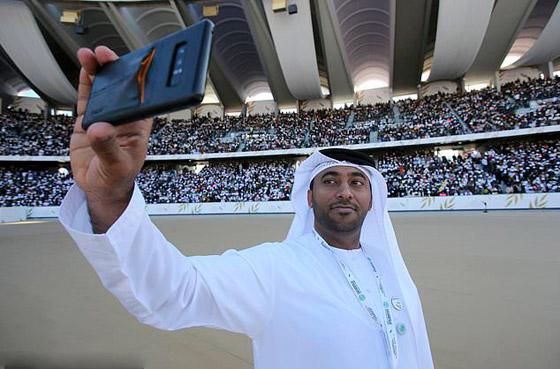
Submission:
M 392 219 L 422 296 L 436 368 L 560 368 L 560 212 Z M 291 216 L 154 221 L 194 255 L 281 240 Z M 48 220 L 0 225 L 2 366 L 245 369 L 252 354 L 240 335 L 141 325 L 103 289 L 58 222 Z

